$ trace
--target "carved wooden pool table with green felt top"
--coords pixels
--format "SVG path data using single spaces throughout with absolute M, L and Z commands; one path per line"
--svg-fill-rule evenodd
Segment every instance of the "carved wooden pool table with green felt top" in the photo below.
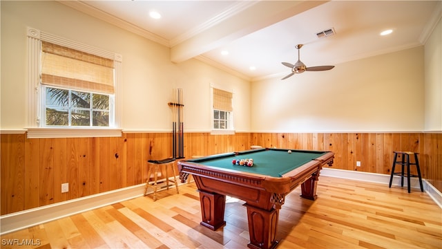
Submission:
M 234 159 L 253 159 L 251 167 Z M 192 174 L 200 192 L 201 225 L 217 230 L 225 225 L 226 196 L 245 201 L 249 221 L 249 248 L 275 248 L 276 229 L 285 196 L 301 185 L 301 196 L 316 199 L 316 184 L 323 165 L 332 165 L 331 151 L 252 149 L 180 160 L 184 183 Z

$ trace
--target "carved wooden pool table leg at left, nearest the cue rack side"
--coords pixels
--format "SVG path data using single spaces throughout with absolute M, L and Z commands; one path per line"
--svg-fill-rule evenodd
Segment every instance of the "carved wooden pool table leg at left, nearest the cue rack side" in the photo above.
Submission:
M 211 230 L 217 230 L 223 225 L 226 225 L 226 221 L 224 221 L 226 196 L 223 194 L 204 192 L 202 190 L 198 190 L 198 192 L 200 192 L 202 216 L 200 224 Z

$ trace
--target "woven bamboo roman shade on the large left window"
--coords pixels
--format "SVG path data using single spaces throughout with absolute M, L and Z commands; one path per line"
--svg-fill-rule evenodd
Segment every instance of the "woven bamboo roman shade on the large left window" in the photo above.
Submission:
M 114 61 L 42 41 L 41 84 L 113 94 Z

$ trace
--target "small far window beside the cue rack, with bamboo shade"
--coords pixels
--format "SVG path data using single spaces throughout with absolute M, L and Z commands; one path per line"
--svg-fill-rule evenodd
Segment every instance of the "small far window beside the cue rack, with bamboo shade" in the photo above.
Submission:
M 233 94 L 213 88 L 213 130 L 233 130 Z

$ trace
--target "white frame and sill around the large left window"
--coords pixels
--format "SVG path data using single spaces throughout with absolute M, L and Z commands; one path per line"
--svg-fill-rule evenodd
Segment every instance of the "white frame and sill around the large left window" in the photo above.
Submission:
M 99 48 L 80 44 L 41 30 L 28 27 L 28 138 L 85 138 L 85 137 L 115 137 L 122 136 L 120 128 L 122 120 L 122 55 L 110 53 Z M 66 46 L 86 53 L 113 59 L 115 62 L 115 95 L 113 102 L 113 127 L 44 127 L 40 84 L 41 70 L 41 41 Z M 110 103 L 111 104 L 111 103 Z

